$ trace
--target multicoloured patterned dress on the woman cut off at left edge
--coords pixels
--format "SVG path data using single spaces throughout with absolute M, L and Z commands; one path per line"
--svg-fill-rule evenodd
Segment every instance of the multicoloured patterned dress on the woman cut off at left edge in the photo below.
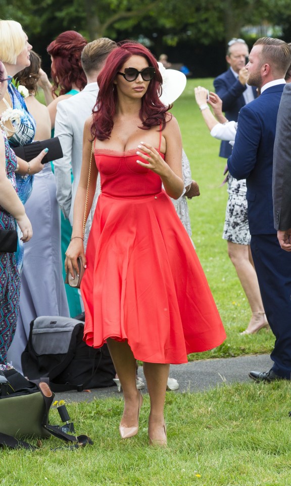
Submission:
M 4 132 L 6 175 L 16 188 L 16 155 L 11 150 Z M 1 135 L 0 135 L 1 136 Z M 16 229 L 14 217 L 0 206 L 0 228 Z M 0 366 L 6 365 L 7 351 L 16 330 L 20 276 L 14 253 L 0 252 Z

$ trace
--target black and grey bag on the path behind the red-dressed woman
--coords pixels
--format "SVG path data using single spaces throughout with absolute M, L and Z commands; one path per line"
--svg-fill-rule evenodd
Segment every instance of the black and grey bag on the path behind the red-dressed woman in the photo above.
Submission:
M 30 323 L 21 365 L 30 380 L 47 377 L 53 391 L 114 386 L 114 365 L 105 344 L 94 349 L 83 341 L 84 323 L 60 316 Z

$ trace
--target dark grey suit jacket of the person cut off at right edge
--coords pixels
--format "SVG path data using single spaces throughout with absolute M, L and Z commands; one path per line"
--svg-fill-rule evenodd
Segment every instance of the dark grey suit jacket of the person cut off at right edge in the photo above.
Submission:
M 277 117 L 273 160 L 273 211 L 276 230 L 291 228 L 291 84 L 286 84 Z

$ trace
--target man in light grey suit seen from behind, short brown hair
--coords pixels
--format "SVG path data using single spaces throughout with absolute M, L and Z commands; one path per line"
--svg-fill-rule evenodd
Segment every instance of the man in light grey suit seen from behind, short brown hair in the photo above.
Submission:
M 97 76 L 116 43 L 106 37 L 87 44 L 81 55 L 87 85 L 75 96 L 57 105 L 55 137 L 60 138 L 64 156 L 54 162 L 57 199 L 64 216 L 73 224 L 73 207 L 82 165 L 83 129 L 98 95 Z M 73 174 L 73 183 L 71 173 Z

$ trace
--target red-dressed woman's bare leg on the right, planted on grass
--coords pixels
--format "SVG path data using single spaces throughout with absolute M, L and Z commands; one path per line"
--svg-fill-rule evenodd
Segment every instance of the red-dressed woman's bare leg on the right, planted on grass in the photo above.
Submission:
M 150 443 L 161 446 L 165 446 L 167 443 L 164 408 L 169 368 L 170 365 L 161 363 L 143 363 L 143 372 L 147 380 L 151 402 L 149 417 Z

